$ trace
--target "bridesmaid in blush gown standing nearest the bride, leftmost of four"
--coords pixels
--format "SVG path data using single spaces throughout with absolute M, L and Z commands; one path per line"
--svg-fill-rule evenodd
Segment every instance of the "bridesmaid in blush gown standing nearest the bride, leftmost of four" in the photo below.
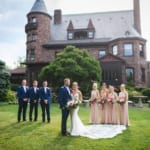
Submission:
M 98 101 L 99 101 L 99 91 L 97 89 L 97 83 L 93 83 L 93 90 L 91 91 L 90 97 L 91 103 L 90 123 L 92 124 L 100 123 Z

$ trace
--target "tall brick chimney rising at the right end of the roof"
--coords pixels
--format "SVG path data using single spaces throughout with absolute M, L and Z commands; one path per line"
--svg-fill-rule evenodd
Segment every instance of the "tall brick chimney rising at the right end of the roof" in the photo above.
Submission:
M 134 0 L 134 28 L 141 34 L 140 0 Z

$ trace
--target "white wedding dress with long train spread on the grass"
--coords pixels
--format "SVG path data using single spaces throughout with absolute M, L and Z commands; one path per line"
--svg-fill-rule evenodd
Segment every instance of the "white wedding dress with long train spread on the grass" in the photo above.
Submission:
M 79 97 L 78 93 L 72 95 L 73 99 Z M 112 138 L 126 129 L 124 125 L 83 125 L 78 116 L 79 106 L 70 110 L 71 136 L 83 136 L 91 139 Z

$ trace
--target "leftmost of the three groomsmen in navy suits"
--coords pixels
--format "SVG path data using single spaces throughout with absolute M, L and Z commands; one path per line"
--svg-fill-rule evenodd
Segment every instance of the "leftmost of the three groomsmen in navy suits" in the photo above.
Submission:
M 18 122 L 21 120 L 21 113 L 23 111 L 23 121 L 26 121 L 26 111 L 28 105 L 28 87 L 26 86 L 27 81 L 22 80 L 21 86 L 18 87 Z

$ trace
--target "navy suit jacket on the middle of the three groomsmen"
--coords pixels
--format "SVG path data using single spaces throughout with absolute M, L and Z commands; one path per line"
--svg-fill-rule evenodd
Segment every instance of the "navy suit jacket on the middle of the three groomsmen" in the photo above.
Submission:
M 36 93 L 34 91 L 34 87 L 30 87 L 28 90 L 28 96 L 30 99 L 30 102 L 33 102 L 34 100 L 39 100 L 39 88 L 36 89 Z

